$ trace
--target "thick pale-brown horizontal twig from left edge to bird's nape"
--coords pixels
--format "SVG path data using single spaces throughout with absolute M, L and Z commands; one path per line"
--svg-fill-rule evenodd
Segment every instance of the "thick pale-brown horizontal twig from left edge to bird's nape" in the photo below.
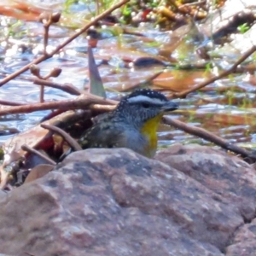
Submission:
M 34 111 L 50 110 L 50 109 L 94 109 L 94 104 L 100 105 L 115 105 L 117 102 L 113 100 L 104 99 L 99 96 L 93 96 L 90 94 L 83 94 L 76 99 L 58 102 L 44 102 L 44 103 L 34 103 L 28 105 L 21 105 L 9 108 L 0 109 L 0 116 L 12 114 L 12 113 L 31 113 Z M 109 107 L 109 106 L 108 106 Z M 108 109 L 106 110 L 108 111 Z

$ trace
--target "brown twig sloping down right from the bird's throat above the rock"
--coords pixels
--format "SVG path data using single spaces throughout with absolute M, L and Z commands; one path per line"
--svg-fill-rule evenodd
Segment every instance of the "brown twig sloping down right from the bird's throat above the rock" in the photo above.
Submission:
M 212 143 L 220 146 L 221 148 L 230 150 L 236 154 L 241 154 L 242 157 L 248 157 L 248 158 L 253 159 L 254 161 L 256 160 L 256 156 L 252 155 L 252 153 L 250 153 L 246 149 L 237 147 L 236 145 L 227 142 L 223 138 L 218 137 L 217 135 L 213 134 L 210 131 L 206 131 L 205 129 L 202 129 L 202 128 L 186 125 L 185 123 L 183 123 L 177 119 L 170 119 L 167 117 L 163 118 L 163 122 L 166 125 L 172 125 L 172 126 L 176 127 L 177 129 L 188 132 L 189 134 L 201 137 L 201 138 L 207 140 L 208 142 L 212 142 Z

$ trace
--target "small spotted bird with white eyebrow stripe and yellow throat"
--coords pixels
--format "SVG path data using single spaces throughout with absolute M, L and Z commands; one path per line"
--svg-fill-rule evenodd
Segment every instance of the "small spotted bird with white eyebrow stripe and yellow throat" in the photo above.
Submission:
M 164 113 L 176 110 L 160 91 L 137 89 L 121 98 L 112 112 L 97 116 L 79 138 L 81 148 L 130 148 L 153 158 L 157 149 L 157 128 Z

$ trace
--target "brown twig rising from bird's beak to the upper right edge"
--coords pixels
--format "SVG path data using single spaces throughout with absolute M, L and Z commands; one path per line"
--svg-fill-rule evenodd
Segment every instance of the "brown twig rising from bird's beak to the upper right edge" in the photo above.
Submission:
M 236 71 L 236 67 L 241 64 L 242 61 L 245 61 L 247 59 L 247 57 L 249 55 L 252 55 L 253 52 L 256 50 L 256 45 L 253 45 L 252 48 L 248 49 L 244 55 L 241 56 L 241 58 L 239 58 L 232 67 L 230 67 L 229 69 L 225 70 L 224 72 L 220 73 L 218 76 L 215 76 L 211 79 L 208 79 L 207 81 L 202 82 L 201 84 L 197 84 L 195 87 L 189 89 L 189 90 L 183 90 L 181 92 L 177 92 L 174 93 L 173 96 L 179 98 L 179 97 L 185 97 L 187 96 L 190 92 L 193 92 L 195 90 L 199 90 L 205 86 L 207 86 L 207 84 L 211 84 L 213 82 L 215 82 L 218 79 L 222 79 L 224 77 L 226 77 L 227 75 L 229 75 L 230 73 L 234 73 Z

